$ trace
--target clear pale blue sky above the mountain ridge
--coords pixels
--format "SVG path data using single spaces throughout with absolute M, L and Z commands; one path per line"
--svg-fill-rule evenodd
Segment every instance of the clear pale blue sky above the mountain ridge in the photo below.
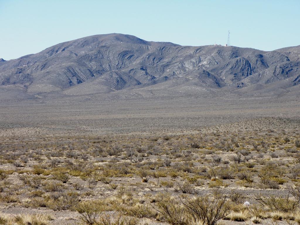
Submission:
M 300 45 L 300 0 L 0 0 L 0 58 L 89 35 L 123 33 L 181 45 L 274 50 Z

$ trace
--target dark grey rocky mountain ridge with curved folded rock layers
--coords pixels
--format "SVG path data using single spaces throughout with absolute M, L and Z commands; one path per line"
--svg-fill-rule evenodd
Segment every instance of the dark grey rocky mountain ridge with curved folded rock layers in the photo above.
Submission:
M 53 91 L 90 95 L 137 88 L 234 91 L 274 82 L 280 86 L 280 81 L 290 88 L 300 82 L 299 56 L 300 46 L 264 52 L 234 46 L 180 46 L 123 34 L 94 35 L 14 60 L 1 58 L 0 87 L 17 85 L 30 95 Z

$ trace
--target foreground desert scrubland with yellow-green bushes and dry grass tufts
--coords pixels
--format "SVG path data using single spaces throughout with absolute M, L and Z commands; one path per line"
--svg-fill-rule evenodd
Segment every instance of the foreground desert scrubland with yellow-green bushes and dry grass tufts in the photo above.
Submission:
M 300 224 L 299 127 L 1 135 L 0 224 Z

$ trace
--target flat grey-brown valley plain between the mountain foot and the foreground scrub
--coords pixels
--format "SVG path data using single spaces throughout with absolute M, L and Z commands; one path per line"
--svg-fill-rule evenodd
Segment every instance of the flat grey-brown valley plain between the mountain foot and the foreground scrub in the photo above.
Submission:
M 180 134 L 260 118 L 297 120 L 300 115 L 300 101 L 295 99 L 26 100 L 0 105 L 2 137 Z

